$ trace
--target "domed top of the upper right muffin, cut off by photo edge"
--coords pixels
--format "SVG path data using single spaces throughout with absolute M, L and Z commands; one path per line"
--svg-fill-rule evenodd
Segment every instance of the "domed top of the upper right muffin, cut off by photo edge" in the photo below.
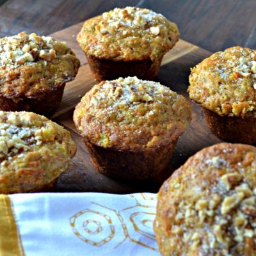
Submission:
M 220 116 L 256 118 L 256 51 L 231 47 L 192 68 L 189 97 Z

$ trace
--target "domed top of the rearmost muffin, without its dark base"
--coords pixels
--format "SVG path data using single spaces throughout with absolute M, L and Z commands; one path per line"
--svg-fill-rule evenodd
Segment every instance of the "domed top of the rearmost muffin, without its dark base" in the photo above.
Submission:
M 152 61 L 179 40 L 175 23 L 151 10 L 126 7 L 86 20 L 77 41 L 88 55 L 111 60 Z

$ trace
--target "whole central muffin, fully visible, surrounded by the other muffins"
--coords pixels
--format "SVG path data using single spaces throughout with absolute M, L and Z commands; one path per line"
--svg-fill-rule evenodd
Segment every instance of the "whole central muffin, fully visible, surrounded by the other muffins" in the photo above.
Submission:
M 115 179 L 147 179 L 169 163 L 191 120 L 188 101 L 137 77 L 102 81 L 74 111 L 95 168 Z

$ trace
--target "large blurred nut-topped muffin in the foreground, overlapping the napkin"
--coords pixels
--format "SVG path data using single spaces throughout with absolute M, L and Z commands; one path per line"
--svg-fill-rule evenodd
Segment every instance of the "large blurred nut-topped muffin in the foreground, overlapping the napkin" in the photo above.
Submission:
M 164 256 L 256 255 L 256 148 L 220 143 L 164 182 L 154 221 Z

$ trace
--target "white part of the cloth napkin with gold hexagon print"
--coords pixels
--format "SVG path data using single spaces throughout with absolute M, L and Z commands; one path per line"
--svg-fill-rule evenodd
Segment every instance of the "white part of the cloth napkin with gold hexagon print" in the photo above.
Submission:
M 10 195 L 28 256 L 160 255 L 156 195 L 34 193 Z

